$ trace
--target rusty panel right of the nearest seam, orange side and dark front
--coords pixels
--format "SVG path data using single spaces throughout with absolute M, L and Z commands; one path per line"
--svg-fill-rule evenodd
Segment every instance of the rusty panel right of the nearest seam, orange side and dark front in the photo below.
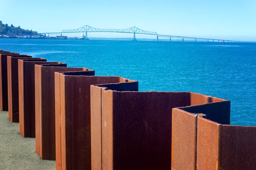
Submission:
M 197 136 L 197 170 L 255 170 L 256 127 L 222 125 L 198 116 Z

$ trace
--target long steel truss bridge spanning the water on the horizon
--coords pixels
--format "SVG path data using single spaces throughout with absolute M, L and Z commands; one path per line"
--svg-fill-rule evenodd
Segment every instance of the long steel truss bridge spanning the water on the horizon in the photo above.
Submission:
M 81 28 L 77 29 L 65 29 L 62 30 L 61 32 L 48 32 L 48 33 L 39 33 L 39 34 L 48 34 L 49 35 L 54 35 L 54 34 L 62 34 L 63 33 L 85 33 L 85 40 L 88 39 L 88 32 L 115 32 L 115 33 L 129 33 L 129 34 L 134 34 L 133 35 L 133 40 L 136 40 L 135 34 L 147 34 L 147 35 L 155 35 L 157 36 L 157 41 L 158 37 L 165 37 L 169 38 L 170 41 L 172 40 L 180 40 L 180 41 L 204 41 L 204 42 L 220 42 L 220 41 L 225 41 L 225 42 L 251 42 L 251 41 L 233 41 L 233 40 L 220 40 L 220 39 L 210 39 L 210 38 L 196 38 L 196 37 L 182 37 L 182 36 L 172 36 L 172 35 L 162 35 L 162 34 L 157 34 L 157 32 L 151 32 L 151 31 L 144 31 L 140 28 L 137 27 L 131 27 L 131 28 L 126 28 L 126 29 L 101 29 L 101 28 L 94 28 L 91 26 L 83 26 Z M 254 42 L 255 43 L 255 42 Z

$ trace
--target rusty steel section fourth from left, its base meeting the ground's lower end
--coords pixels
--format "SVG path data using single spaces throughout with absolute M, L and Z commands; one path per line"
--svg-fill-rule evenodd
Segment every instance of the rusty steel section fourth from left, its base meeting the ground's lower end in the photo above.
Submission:
M 55 78 L 59 71 L 83 71 L 66 64 L 35 65 L 35 146 L 41 159 L 55 160 Z

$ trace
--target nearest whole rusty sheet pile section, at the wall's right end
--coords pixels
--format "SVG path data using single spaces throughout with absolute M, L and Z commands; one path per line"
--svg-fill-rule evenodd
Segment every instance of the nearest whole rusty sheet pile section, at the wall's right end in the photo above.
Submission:
M 172 168 L 254 170 L 256 127 L 230 125 L 230 101 L 209 98 L 207 104 L 173 109 Z M 195 123 L 186 128 L 189 122 Z M 189 143 L 194 145 L 184 147 Z M 195 160 L 187 161 L 192 155 Z

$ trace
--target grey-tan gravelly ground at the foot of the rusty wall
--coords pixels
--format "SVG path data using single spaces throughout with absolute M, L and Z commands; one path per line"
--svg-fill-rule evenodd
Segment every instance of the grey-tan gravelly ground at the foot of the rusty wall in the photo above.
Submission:
M 55 170 L 55 161 L 40 159 L 35 138 L 23 138 L 6 111 L 0 111 L 0 170 Z

